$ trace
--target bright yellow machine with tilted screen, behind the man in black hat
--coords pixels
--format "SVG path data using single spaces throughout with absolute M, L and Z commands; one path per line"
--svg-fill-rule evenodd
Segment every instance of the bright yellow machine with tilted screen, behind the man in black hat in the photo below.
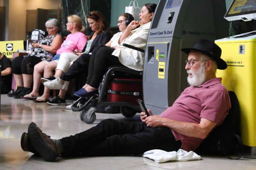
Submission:
M 225 19 L 256 20 L 256 0 L 233 0 Z M 256 28 L 254 28 L 256 30 Z M 241 138 L 245 152 L 256 156 L 256 31 L 216 40 L 226 70 L 217 70 L 222 84 L 234 91 L 241 108 Z

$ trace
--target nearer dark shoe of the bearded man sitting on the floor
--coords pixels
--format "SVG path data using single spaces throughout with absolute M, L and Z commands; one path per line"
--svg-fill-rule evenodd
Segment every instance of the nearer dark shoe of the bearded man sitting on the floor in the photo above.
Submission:
M 55 143 L 52 142 L 49 136 L 38 130 L 34 122 L 29 124 L 28 135 L 31 146 L 45 161 L 54 161 L 57 158 L 58 149 Z

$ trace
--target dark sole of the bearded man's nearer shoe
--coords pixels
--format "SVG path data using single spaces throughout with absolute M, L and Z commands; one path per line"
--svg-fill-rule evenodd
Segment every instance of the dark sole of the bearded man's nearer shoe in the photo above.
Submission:
M 41 138 L 38 132 L 37 125 L 32 122 L 29 124 L 28 134 L 30 137 L 31 145 L 36 150 L 36 152 L 44 158 L 45 161 L 54 161 L 58 154 L 55 153 L 51 147 Z

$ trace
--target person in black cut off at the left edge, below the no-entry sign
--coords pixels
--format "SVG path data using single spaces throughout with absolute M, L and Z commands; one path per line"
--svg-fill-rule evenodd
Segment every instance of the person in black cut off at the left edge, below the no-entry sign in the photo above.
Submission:
M 12 62 L 0 52 L 0 69 L 1 69 L 1 94 L 7 94 L 12 88 Z

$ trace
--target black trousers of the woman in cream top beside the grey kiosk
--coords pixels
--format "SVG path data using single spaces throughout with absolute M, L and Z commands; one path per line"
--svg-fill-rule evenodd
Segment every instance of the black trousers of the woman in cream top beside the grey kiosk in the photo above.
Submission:
M 100 82 L 102 82 L 103 75 L 106 73 L 108 68 L 112 65 L 122 65 L 119 62 L 118 57 L 111 55 L 115 49 L 102 47 L 98 48 L 99 50 L 93 50 L 89 68 L 88 68 L 88 77 L 87 84 L 93 88 L 99 88 Z

